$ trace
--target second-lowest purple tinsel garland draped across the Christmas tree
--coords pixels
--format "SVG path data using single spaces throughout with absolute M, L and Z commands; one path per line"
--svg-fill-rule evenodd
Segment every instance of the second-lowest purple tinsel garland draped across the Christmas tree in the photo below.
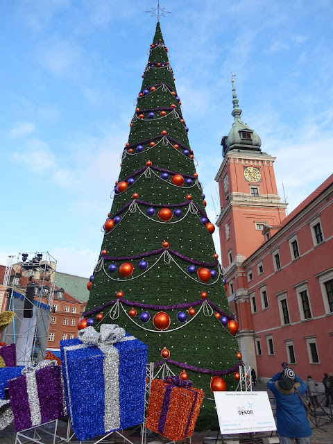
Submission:
M 115 302 L 117 302 L 118 299 L 112 299 L 109 302 L 107 302 L 104 305 L 101 305 L 101 307 L 97 307 L 94 308 L 90 311 L 85 311 L 85 313 L 83 313 L 83 317 L 87 318 L 89 316 L 92 316 L 96 313 L 99 313 L 100 311 L 103 311 L 105 308 L 110 307 L 111 305 L 113 305 Z M 206 299 L 208 304 L 214 308 L 214 310 L 216 310 L 219 314 L 221 314 L 222 316 L 225 316 L 225 318 L 228 318 L 229 321 L 232 320 L 234 321 L 234 315 L 233 314 L 228 314 L 225 313 L 225 311 L 221 310 L 219 307 L 217 307 L 215 304 L 213 304 L 213 302 L 211 302 L 209 299 Z M 124 305 L 129 305 L 130 307 L 137 307 L 137 308 L 143 308 L 143 309 L 152 309 L 152 310 L 176 310 L 176 309 L 186 309 L 186 308 L 190 308 L 190 307 L 196 307 L 197 305 L 201 305 L 203 304 L 203 302 L 205 301 L 205 299 L 201 298 L 198 299 L 194 302 L 182 302 L 181 304 L 175 304 L 175 305 L 151 305 L 151 304 L 143 304 L 142 302 L 132 302 L 130 300 L 127 299 L 123 299 L 121 298 L 121 302 Z

